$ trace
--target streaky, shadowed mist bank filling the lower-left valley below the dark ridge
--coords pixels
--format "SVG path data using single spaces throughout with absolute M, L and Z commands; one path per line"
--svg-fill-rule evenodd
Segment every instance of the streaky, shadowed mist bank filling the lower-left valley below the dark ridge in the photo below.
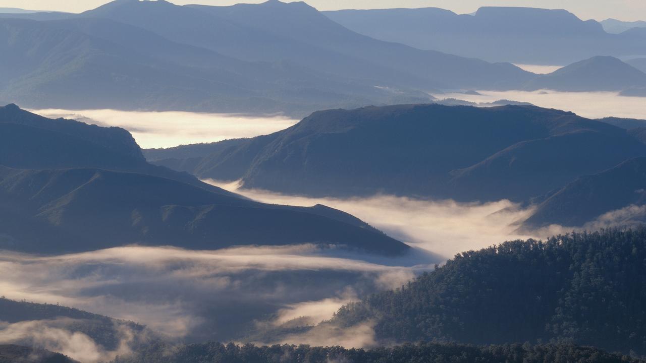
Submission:
M 130 246 L 59 256 L 3 253 L 0 289 L 16 300 L 60 303 L 140 322 L 169 337 L 225 340 L 256 320 L 275 316 L 282 321 L 306 316 L 317 324 L 347 302 L 432 268 L 381 265 L 341 254 L 307 244 L 218 251 Z

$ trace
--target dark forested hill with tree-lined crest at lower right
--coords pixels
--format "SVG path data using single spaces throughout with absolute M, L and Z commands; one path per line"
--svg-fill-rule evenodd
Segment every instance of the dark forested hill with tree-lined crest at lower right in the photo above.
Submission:
M 379 341 L 573 342 L 646 353 L 646 227 L 505 242 L 457 254 L 404 285 L 342 307 Z

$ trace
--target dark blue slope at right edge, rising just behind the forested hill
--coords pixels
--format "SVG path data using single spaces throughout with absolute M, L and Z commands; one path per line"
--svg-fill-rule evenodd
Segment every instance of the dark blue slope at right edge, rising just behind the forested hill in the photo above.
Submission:
M 599 217 L 599 223 L 607 225 L 643 223 L 645 203 L 646 158 L 634 158 L 607 171 L 582 176 L 554 192 L 538 205 L 523 227 L 581 227 Z

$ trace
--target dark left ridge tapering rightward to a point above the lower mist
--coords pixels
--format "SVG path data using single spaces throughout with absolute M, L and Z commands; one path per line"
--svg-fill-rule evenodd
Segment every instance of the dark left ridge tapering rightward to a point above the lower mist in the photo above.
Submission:
M 3 248 L 39 253 L 127 244 L 218 249 L 231 245 L 335 244 L 397 254 L 408 246 L 368 228 L 242 200 L 173 180 L 98 169 L 0 169 Z M 321 213 L 325 213 L 322 211 Z M 339 214 L 339 213 L 337 213 Z

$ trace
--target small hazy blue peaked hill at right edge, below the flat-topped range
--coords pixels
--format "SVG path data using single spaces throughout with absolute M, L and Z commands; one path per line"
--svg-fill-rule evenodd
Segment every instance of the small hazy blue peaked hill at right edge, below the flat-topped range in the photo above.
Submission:
M 537 77 L 525 89 L 569 92 L 625 90 L 646 87 L 646 73 L 615 57 L 592 57 Z

